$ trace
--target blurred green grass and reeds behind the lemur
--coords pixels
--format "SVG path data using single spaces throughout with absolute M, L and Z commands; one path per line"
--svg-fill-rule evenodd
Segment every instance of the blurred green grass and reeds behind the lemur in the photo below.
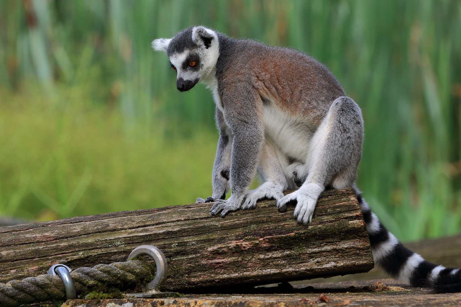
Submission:
M 358 186 L 403 240 L 461 228 L 459 0 L 3 0 L 0 215 L 211 195 L 212 95 L 150 42 L 203 24 L 326 64 L 361 106 Z

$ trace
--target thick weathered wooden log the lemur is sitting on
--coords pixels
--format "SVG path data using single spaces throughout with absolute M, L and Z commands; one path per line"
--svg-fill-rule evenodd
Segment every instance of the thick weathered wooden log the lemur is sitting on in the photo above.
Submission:
M 374 266 L 353 189 L 322 193 L 312 225 L 275 201 L 224 219 L 210 203 L 170 206 L 0 227 L 0 282 L 71 268 L 125 261 L 142 244 L 168 260 L 163 289 L 268 284 L 367 272 Z

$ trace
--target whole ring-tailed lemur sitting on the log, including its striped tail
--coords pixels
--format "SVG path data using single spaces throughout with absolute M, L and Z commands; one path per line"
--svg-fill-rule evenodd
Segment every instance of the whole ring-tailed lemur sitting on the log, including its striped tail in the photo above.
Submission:
M 275 198 L 283 212 L 296 200 L 295 216 L 306 225 L 325 186 L 353 186 L 378 265 L 413 286 L 461 291 L 459 269 L 436 266 L 403 247 L 361 197 L 354 183 L 361 109 L 324 65 L 296 50 L 234 40 L 201 26 L 152 46 L 168 55 L 179 91 L 202 81 L 213 92 L 219 128 L 213 196 L 197 199 L 215 201 L 212 215 L 254 209 L 261 198 Z M 248 191 L 256 170 L 265 182 Z

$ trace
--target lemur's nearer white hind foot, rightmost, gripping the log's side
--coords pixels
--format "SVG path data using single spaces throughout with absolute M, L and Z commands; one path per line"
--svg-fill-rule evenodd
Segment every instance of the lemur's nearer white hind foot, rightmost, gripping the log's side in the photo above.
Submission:
M 296 200 L 297 204 L 293 215 L 295 215 L 298 223 L 308 225 L 312 222 L 315 205 L 323 190 L 325 190 L 323 186 L 314 183 L 304 184 L 298 190 L 280 199 L 277 202 L 277 208 L 279 206 L 286 208 L 287 203 Z

